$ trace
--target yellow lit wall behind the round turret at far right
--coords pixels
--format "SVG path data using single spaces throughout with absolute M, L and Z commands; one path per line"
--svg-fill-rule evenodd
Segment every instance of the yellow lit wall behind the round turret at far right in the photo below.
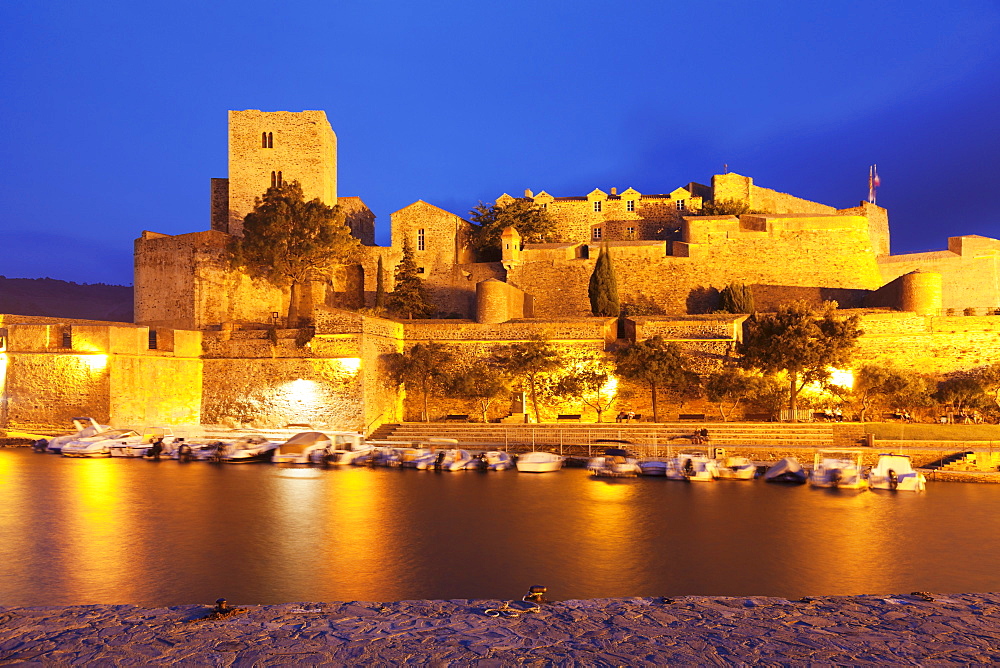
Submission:
M 885 283 L 911 271 L 941 274 L 942 308 L 1000 307 L 1000 240 L 981 236 L 951 237 L 948 250 L 881 257 L 878 267 Z

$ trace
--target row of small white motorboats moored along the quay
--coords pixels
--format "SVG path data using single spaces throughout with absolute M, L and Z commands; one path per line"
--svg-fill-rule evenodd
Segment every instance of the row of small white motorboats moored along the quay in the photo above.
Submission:
M 273 440 L 262 434 L 197 440 L 177 437 L 166 427 L 139 433 L 132 429 L 112 429 L 92 418 L 75 418 L 73 422 L 76 433 L 53 438 L 39 447 L 65 457 L 367 465 L 440 471 L 503 471 L 516 466 L 527 473 L 547 473 L 559 471 L 565 463 L 561 455 L 544 451 L 526 452 L 516 459 L 502 450 L 472 452 L 459 448 L 457 440 L 447 438 L 413 444 L 366 440 L 356 432 L 307 431 L 287 440 Z M 587 469 L 594 476 L 608 478 L 646 475 L 709 482 L 762 477 L 767 482 L 809 482 L 815 487 L 842 489 L 921 491 L 925 484 L 924 476 L 912 468 L 906 455 L 881 454 L 875 466 L 865 468 L 862 452 L 856 450 L 818 450 L 812 470 L 806 471 L 794 457 L 786 457 L 764 470 L 746 457 L 714 459 L 704 449 L 683 450 L 667 457 L 636 457 L 624 448 L 615 447 L 591 457 Z

